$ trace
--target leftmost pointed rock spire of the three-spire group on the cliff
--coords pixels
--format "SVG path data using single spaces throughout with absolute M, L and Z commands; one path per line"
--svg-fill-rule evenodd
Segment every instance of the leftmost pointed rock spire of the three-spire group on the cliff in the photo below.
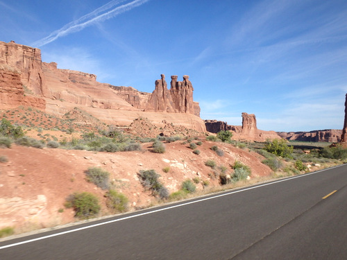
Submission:
M 155 89 L 152 92 L 146 111 L 154 112 L 175 112 L 171 94 L 167 89 L 165 75 L 161 75 L 160 80 L 155 80 Z

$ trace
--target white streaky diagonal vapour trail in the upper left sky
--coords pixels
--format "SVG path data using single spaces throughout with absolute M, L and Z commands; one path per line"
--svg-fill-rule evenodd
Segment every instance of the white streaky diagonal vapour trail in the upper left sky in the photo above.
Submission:
M 95 24 L 97 22 L 105 21 L 112 17 L 116 17 L 122 12 L 127 12 L 129 10 L 132 10 L 133 8 L 137 6 L 141 6 L 142 4 L 150 0 L 135 0 L 129 3 L 124 3 L 121 6 L 118 6 L 120 3 L 124 1 L 126 0 L 110 1 L 109 3 L 106 3 L 104 6 L 97 8 L 93 12 L 90 12 L 89 14 L 84 15 L 83 17 L 75 21 L 71 21 L 69 24 L 66 24 L 59 30 L 54 31 L 49 36 L 44 37 L 43 39 L 38 40 L 37 42 L 34 42 L 32 45 L 37 47 L 44 46 L 46 44 L 49 44 L 50 42 L 57 40 L 59 37 L 66 36 L 71 33 L 76 33 L 78 31 L 83 30 L 87 26 L 91 26 L 92 24 Z M 110 10 L 110 8 L 112 9 Z

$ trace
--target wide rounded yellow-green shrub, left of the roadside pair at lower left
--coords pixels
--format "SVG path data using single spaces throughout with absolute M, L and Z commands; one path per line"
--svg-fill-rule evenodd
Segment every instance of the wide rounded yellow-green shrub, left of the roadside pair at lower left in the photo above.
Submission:
M 65 202 L 65 207 L 73 207 L 78 218 L 91 218 L 101 209 L 98 198 L 89 192 L 71 194 Z

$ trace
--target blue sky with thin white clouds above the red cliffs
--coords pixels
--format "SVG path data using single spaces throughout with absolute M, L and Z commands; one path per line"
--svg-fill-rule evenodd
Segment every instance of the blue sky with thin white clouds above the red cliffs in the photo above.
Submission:
M 202 119 L 262 130 L 341 129 L 346 0 L 0 0 L 0 41 L 101 83 L 152 92 L 187 74 Z

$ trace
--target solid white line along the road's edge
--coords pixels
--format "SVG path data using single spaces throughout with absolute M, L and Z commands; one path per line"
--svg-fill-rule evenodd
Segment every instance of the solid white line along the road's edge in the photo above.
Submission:
M 100 225 L 107 225 L 107 224 L 115 223 L 115 222 L 118 222 L 118 221 L 121 221 L 121 220 L 126 220 L 126 219 L 130 219 L 130 218 L 136 218 L 136 217 L 139 217 L 139 216 L 153 214 L 153 213 L 156 213 L 156 212 L 159 212 L 159 211 L 164 211 L 164 210 L 167 210 L 167 209 L 174 209 L 176 207 L 182 207 L 182 206 L 185 206 L 185 205 L 189 205 L 189 204 L 193 204 L 193 203 L 197 203 L 197 202 L 201 202 L 201 201 L 205 201 L 205 200 L 212 200 L 214 198 L 228 196 L 228 195 L 231 195 L 231 194 L 234 194 L 234 193 L 239 193 L 239 192 L 242 192 L 242 191 L 249 191 L 251 189 L 257 189 L 257 188 L 260 188 L 260 187 L 276 184 L 276 183 L 279 183 L 279 182 L 286 182 L 287 180 L 294 180 L 294 179 L 296 179 L 298 177 L 305 177 L 305 176 L 308 176 L 308 175 L 321 173 L 322 171 L 327 171 L 327 170 L 330 170 L 332 168 L 337 168 L 337 167 L 343 166 L 343 165 L 344 164 L 341 164 L 341 165 L 334 166 L 334 167 L 331 167 L 331 168 L 326 168 L 326 169 L 323 169 L 323 170 L 320 170 L 320 171 L 314 171 L 313 173 L 306 173 L 304 175 L 297 175 L 297 176 L 294 176 L 294 177 L 289 177 L 289 178 L 286 178 L 286 179 L 277 180 L 275 182 L 267 182 L 267 183 L 260 184 L 260 185 L 257 185 L 257 186 L 253 186 L 253 187 L 249 187 L 249 188 L 245 188 L 245 189 L 239 189 L 237 191 L 230 191 L 228 193 L 219 194 L 217 196 L 212 196 L 212 197 L 209 197 L 209 198 L 203 198 L 201 200 L 194 200 L 194 201 L 190 201 L 190 202 L 185 202 L 183 204 L 174 205 L 174 206 L 171 206 L 171 207 L 164 207 L 162 209 L 155 209 L 153 211 L 147 211 L 147 212 L 144 212 L 144 213 L 140 213 L 140 214 L 136 214 L 136 215 L 132 215 L 132 216 L 127 216 L 127 217 L 124 217 L 124 218 L 117 218 L 117 219 L 109 220 L 109 221 L 106 221 L 106 222 L 103 222 L 103 223 L 98 223 L 98 224 L 94 224 L 94 225 L 88 225 L 88 226 L 85 226 L 85 227 L 78 227 L 76 229 L 70 229 L 70 230 L 67 230 L 65 232 L 51 234 L 51 235 L 48 235 L 48 236 L 41 236 L 41 237 L 38 237 L 37 239 L 29 239 L 29 240 L 26 240 L 26 241 L 13 243 L 13 244 L 10 244 L 10 245 L 3 245 L 3 246 L 0 247 L 0 250 L 1 249 L 5 249 L 5 248 L 14 247 L 14 246 L 17 246 L 17 245 L 23 245 L 23 244 L 26 244 L 26 243 L 39 241 L 39 240 L 42 240 L 42 239 L 49 239 L 49 238 L 54 237 L 54 236 L 60 236 L 60 235 L 63 235 L 63 234 L 69 234 L 69 233 L 72 233 L 72 232 L 78 232 L 78 231 L 83 230 L 83 229 L 97 227 L 97 226 L 100 226 Z

